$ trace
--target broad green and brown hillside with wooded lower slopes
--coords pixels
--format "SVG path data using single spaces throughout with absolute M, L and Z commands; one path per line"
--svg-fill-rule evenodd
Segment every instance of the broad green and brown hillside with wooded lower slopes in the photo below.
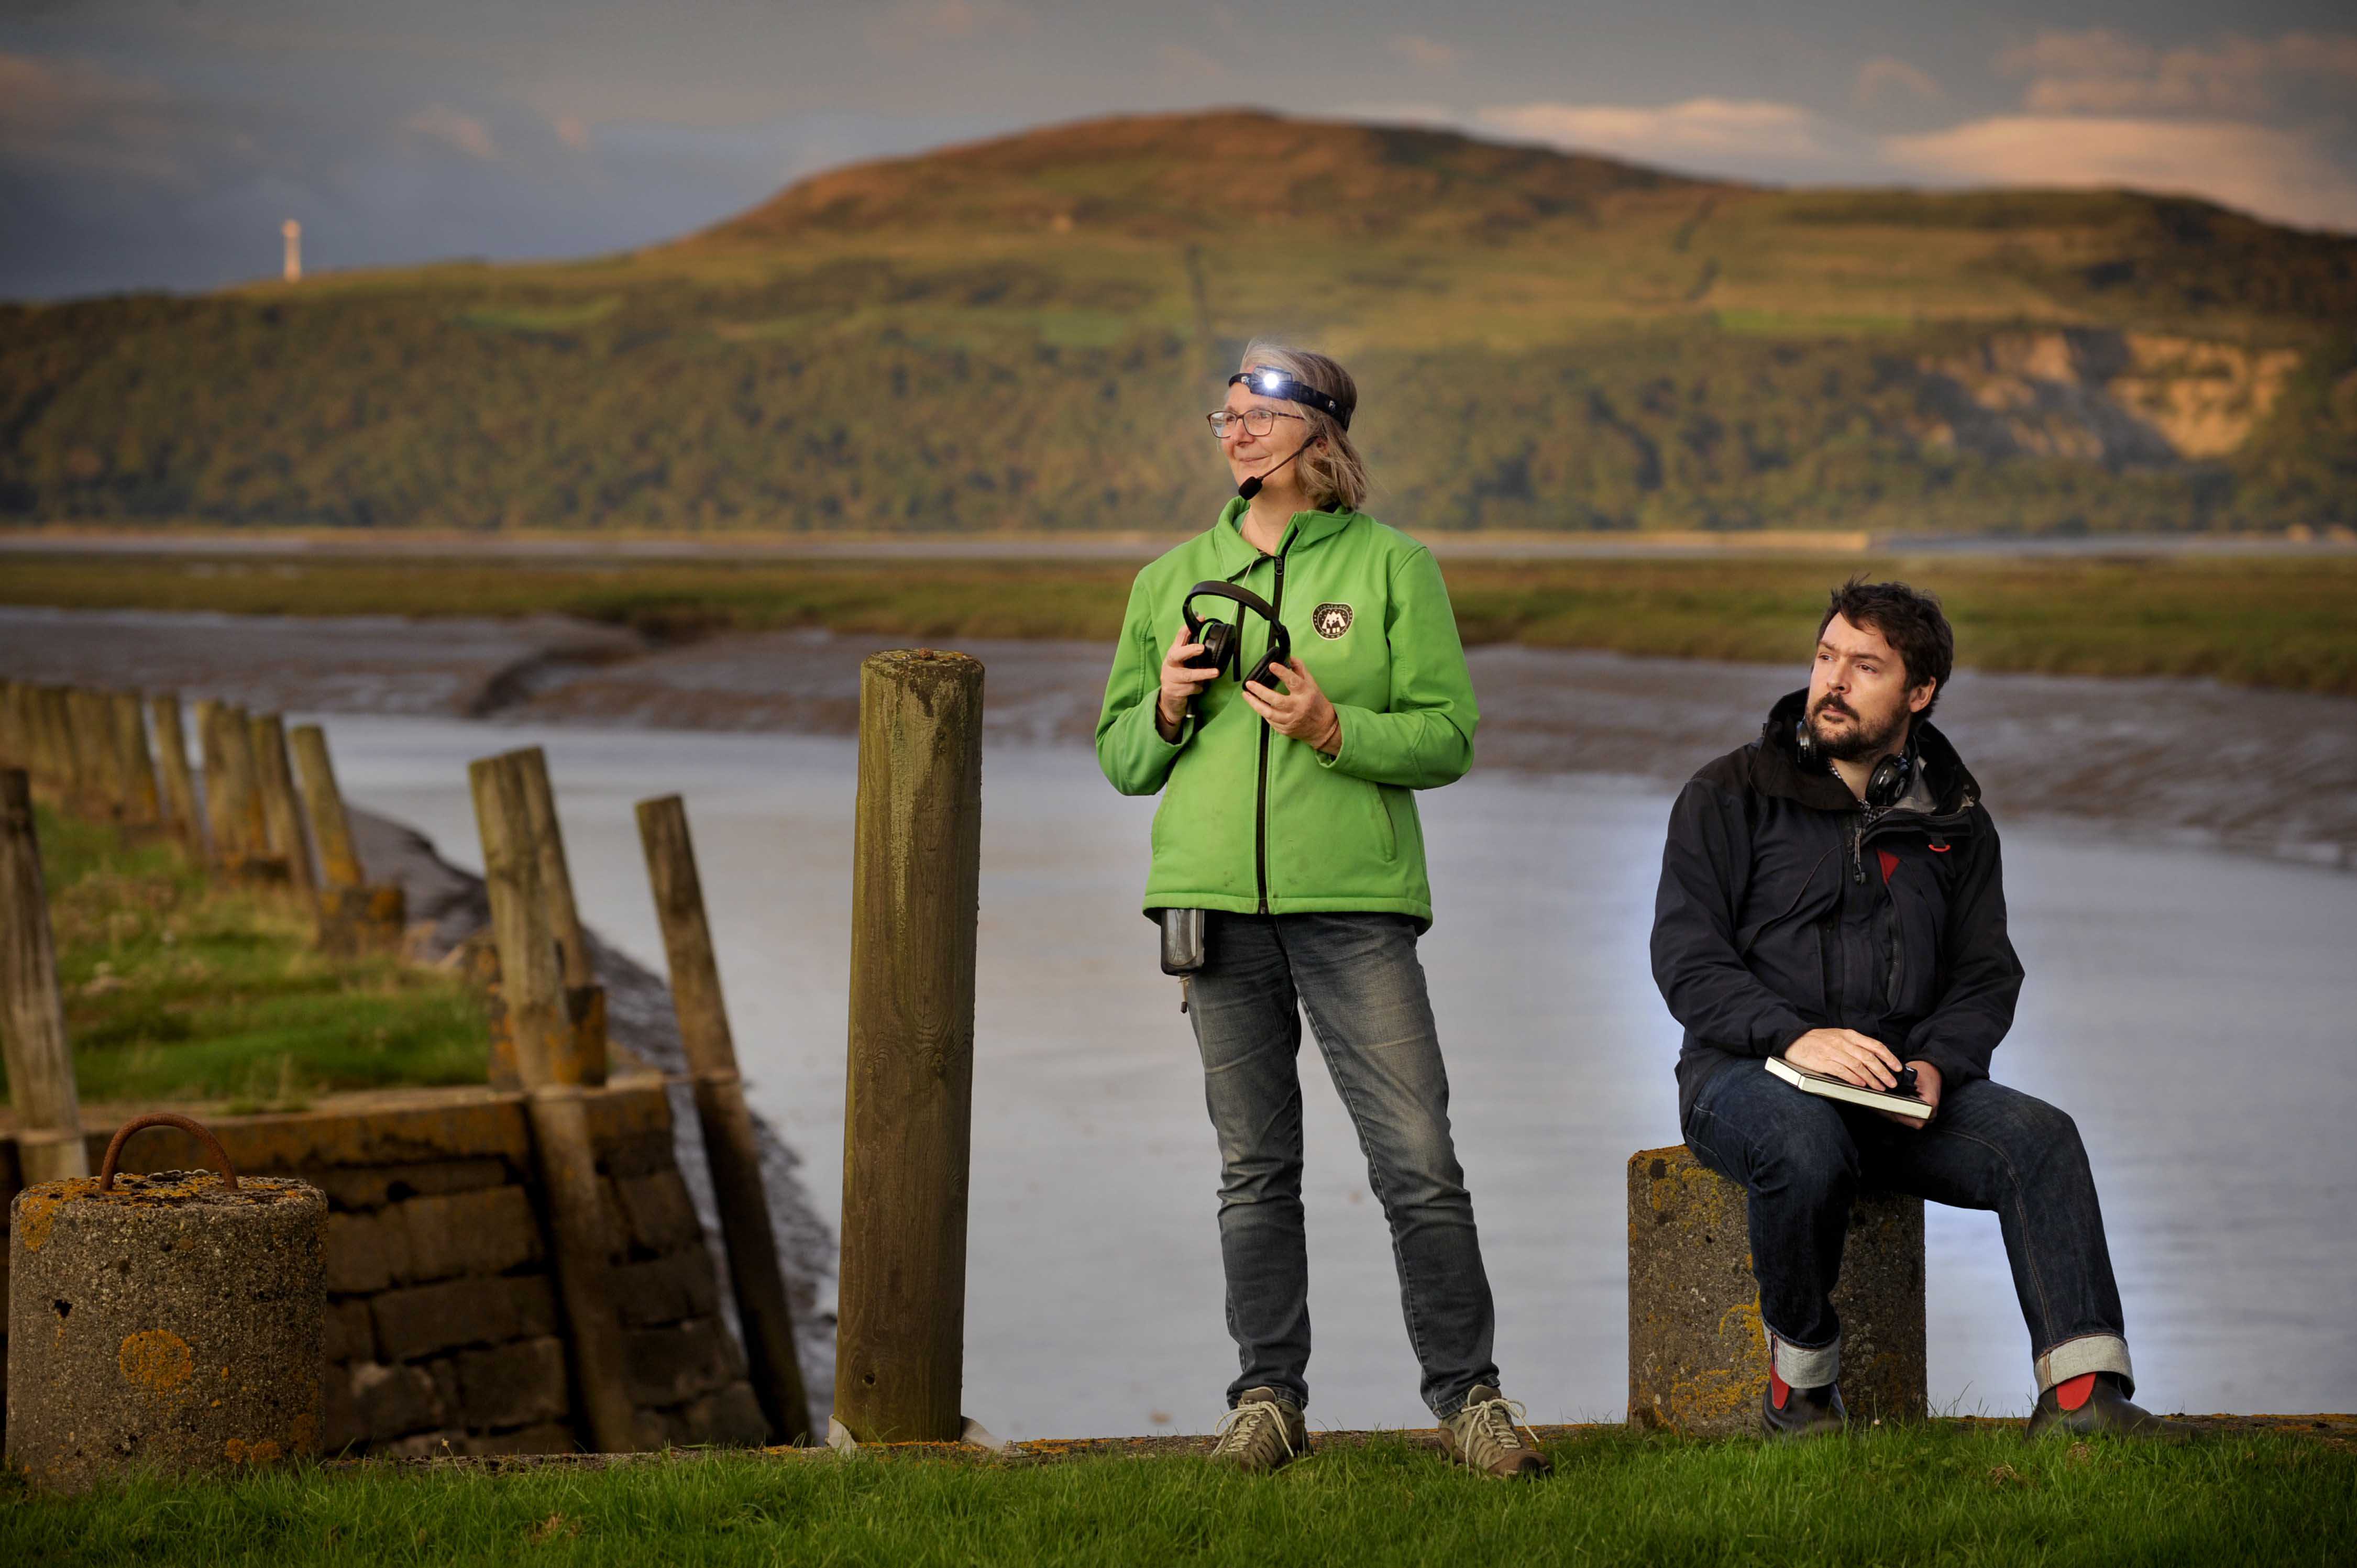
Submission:
M 1409 528 L 2357 521 L 2357 238 L 1259 113 L 575 264 L 0 307 L 0 519 L 1183 531 L 1252 332 L 1348 358 Z

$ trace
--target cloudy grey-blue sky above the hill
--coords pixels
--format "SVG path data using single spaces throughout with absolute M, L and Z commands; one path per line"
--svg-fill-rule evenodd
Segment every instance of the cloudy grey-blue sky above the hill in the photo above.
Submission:
M 596 255 L 839 163 L 1211 106 L 2357 231 L 2345 2 L 0 0 L 0 297 L 269 276 L 285 219 L 313 271 Z

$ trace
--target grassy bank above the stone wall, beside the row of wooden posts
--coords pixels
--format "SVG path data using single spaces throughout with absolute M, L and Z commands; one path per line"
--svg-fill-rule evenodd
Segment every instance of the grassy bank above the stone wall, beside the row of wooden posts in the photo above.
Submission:
M 299 1108 L 330 1089 L 483 1082 L 478 1002 L 389 957 L 311 950 L 288 891 L 214 887 L 177 846 L 40 813 L 59 990 L 85 1101 Z

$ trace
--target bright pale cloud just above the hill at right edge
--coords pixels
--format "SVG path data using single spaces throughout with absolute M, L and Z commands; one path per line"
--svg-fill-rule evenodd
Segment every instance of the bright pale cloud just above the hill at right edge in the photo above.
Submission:
M 2204 196 L 2275 222 L 2357 229 L 2357 177 L 2312 134 L 2239 120 L 1992 116 L 1883 137 L 1907 174 L 2006 186 L 2133 186 Z

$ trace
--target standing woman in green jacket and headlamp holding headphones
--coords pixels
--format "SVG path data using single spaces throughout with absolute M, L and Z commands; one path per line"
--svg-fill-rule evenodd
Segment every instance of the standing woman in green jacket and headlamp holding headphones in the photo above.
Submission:
M 1209 415 L 1237 500 L 1138 573 L 1096 722 L 1113 788 L 1162 792 L 1148 915 L 1204 910 L 1188 1004 L 1242 1363 L 1211 1457 L 1261 1471 L 1308 1445 L 1296 1070 L 1308 1012 L 1391 1224 L 1407 1337 L 1447 1450 L 1494 1476 L 1544 1474 L 1490 1361 L 1490 1278 L 1417 962 L 1433 908 L 1414 790 L 1473 764 L 1473 684 L 1431 552 L 1358 512 L 1355 408 L 1358 387 L 1332 358 L 1244 351 Z M 1228 622 L 1237 646 L 1221 667 L 1193 663 L 1221 632 L 1204 627 L 1200 641 L 1188 608 Z M 1270 653 L 1266 679 L 1252 679 Z

